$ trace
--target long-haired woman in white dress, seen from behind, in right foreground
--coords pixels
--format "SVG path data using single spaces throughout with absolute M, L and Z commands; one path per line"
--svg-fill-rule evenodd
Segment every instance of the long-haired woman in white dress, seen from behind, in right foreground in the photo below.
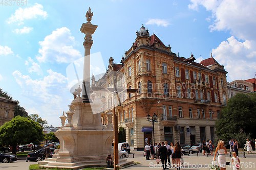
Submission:
M 226 158 L 225 158 L 225 154 L 227 154 L 227 149 L 226 147 L 224 147 L 224 141 L 220 140 L 218 142 L 218 146 L 216 148 L 215 154 L 214 154 L 214 160 L 215 161 L 215 157 L 217 155 L 217 152 L 219 152 L 218 155 L 218 163 L 220 165 L 221 170 L 226 170 Z

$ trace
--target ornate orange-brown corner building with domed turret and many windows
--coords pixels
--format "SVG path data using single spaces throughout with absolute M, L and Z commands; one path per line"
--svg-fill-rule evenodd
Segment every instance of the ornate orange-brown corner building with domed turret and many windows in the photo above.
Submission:
M 153 136 L 157 143 L 167 140 L 194 145 L 214 140 L 215 121 L 228 100 L 224 66 L 212 57 L 197 63 L 193 54 L 187 59 L 176 55 L 143 25 L 136 35 L 121 64 L 114 64 L 111 57 L 105 75 L 92 82 L 95 87 L 113 87 L 115 66 L 117 86 L 138 89 L 137 93 L 120 93 L 123 109 L 118 111 L 118 125 L 125 128 L 126 141 L 135 150 L 143 150 L 146 142 L 154 142 Z M 113 96 L 96 93 L 104 103 L 101 117 L 105 125 L 106 114 L 113 111 Z M 153 131 L 146 116 L 154 113 Z

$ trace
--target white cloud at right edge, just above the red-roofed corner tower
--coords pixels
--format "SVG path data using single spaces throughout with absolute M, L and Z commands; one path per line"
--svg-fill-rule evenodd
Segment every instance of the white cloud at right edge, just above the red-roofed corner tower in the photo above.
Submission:
M 240 42 L 231 36 L 227 41 L 221 42 L 216 49 L 212 49 L 212 54 L 221 65 L 225 66 L 225 70 L 228 71 L 227 79 L 230 82 L 254 77 L 256 70 L 255 49 L 255 41 Z

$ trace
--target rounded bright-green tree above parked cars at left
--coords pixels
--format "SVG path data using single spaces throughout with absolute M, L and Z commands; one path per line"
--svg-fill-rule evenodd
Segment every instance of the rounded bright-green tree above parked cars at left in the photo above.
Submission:
M 39 143 L 42 140 L 42 127 L 27 117 L 16 116 L 0 127 L 0 144 L 11 145 L 13 154 L 16 154 L 17 144 Z

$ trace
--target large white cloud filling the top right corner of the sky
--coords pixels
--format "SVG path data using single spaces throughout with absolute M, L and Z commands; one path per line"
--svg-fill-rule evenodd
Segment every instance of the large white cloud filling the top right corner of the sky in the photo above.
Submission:
M 207 11 L 212 12 L 214 22 L 209 26 L 211 31 L 230 30 L 231 35 L 243 40 L 256 40 L 256 1 L 240 0 L 190 0 L 193 4 L 189 9 L 198 10 L 202 5 Z

